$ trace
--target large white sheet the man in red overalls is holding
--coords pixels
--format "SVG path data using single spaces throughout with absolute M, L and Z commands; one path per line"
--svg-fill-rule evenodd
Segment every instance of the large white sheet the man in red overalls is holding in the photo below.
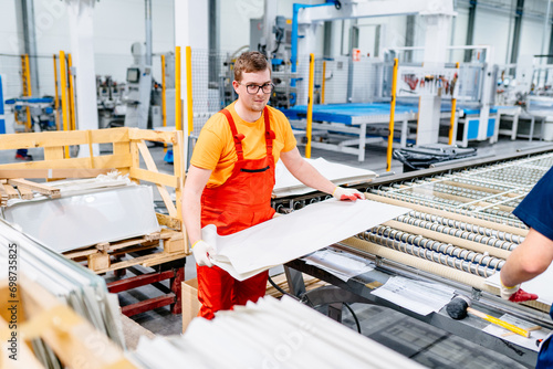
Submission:
M 216 265 L 243 281 L 399 217 L 409 209 L 371 200 L 330 199 L 230 235 L 208 224 L 202 239 L 216 249 Z

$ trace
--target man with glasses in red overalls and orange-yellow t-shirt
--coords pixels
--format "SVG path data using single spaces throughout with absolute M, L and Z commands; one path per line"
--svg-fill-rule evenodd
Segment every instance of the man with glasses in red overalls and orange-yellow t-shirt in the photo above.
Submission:
M 201 240 L 201 228 L 215 224 L 219 235 L 227 235 L 271 219 L 279 157 L 306 186 L 340 200 L 364 198 L 356 190 L 334 186 L 302 158 L 285 116 L 267 106 L 273 85 L 263 54 L 240 55 L 232 85 L 238 99 L 201 129 L 182 197 L 184 221 L 197 263 L 199 315 L 207 319 L 265 294 L 269 272 L 239 282 L 212 265 L 209 253 L 213 250 Z

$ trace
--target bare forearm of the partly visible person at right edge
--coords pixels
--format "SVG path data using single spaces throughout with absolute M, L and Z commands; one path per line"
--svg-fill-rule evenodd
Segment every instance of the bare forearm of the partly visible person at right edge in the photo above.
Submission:
M 501 268 L 501 283 L 517 286 L 545 272 L 552 262 L 553 241 L 531 228 Z

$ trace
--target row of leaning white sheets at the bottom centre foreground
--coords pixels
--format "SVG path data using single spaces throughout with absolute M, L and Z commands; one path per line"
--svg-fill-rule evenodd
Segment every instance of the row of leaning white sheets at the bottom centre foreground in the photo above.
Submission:
M 288 296 L 196 318 L 180 337 L 144 338 L 133 359 L 145 368 L 422 368 Z

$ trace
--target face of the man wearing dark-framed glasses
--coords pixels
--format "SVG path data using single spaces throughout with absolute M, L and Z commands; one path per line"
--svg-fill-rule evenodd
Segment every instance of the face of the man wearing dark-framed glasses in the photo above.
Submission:
M 270 83 L 271 72 L 269 70 L 264 70 L 262 72 L 242 73 L 242 81 L 233 81 L 232 85 L 239 96 L 239 101 L 247 109 L 251 112 L 262 112 L 269 102 L 271 94 L 263 93 L 263 89 L 259 88 L 259 86 Z M 251 86 L 249 87 L 250 91 L 255 91 L 253 95 L 248 93 L 248 86 Z

